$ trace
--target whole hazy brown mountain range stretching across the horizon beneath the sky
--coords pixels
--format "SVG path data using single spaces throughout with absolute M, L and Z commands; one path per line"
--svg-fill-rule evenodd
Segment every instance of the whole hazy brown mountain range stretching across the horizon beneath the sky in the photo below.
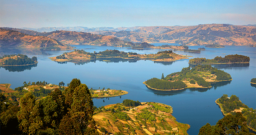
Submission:
M 179 43 L 183 45 L 256 45 L 255 25 L 203 24 L 198 26 L 151 27 L 48 27 L 6 28 L 32 36 L 45 36 L 62 44 L 114 45 L 147 47 L 145 43 Z M 37 30 L 37 31 L 34 31 Z M 51 31 L 51 32 L 38 32 Z M 90 32 L 90 33 L 88 33 Z M 144 45 L 140 44 L 144 43 Z M 1 43 L 2 44 L 2 43 Z

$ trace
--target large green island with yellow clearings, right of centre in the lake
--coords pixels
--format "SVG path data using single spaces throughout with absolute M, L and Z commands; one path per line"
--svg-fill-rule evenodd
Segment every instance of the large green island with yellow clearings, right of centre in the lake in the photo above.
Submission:
M 211 65 L 197 65 L 194 68 L 183 68 L 181 72 L 174 72 L 162 78 L 151 78 L 143 82 L 146 87 L 153 90 L 181 90 L 184 88 L 210 88 L 211 83 L 231 81 L 232 77 L 223 70 Z

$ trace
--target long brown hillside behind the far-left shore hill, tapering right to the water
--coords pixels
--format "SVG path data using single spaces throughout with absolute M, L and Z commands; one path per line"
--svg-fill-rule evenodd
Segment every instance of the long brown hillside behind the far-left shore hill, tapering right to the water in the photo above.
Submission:
M 150 47 L 153 45 L 147 43 L 132 43 L 129 41 L 120 40 L 119 38 L 112 36 L 104 36 L 99 34 L 91 34 L 76 31 L 52 31 L 52 32 L 36 32 L 32 30 L 23 30 L 19 28 L 6 28 L 7 30 L 15 30 L 21 33 L 30 34 L 32 36 L 45 36 L 56 39 L 63 44 L 88 44 L 88 45 L 103 45 L 103 46 L 119 46 L 119 47 Z

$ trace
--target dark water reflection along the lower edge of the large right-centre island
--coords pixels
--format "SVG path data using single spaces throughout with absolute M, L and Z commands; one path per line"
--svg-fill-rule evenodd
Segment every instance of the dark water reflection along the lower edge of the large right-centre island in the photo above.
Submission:
M 151 91 L 153 92 L 154 94 L 156 95 L 160 95 L 160 96 L 171 96 L 171 95 L 177 95 L 177 94 L 183 94 L 186 90 L 189 90 L 191 92 L 193 91 L 198 91 L 198 92 L 206 92 L 212 88 L 214 88 L 214 90 L 217 88 L 217 87 L 221 87 L 221 86 L 224 86 L 224 85 L 227 85 L 227 84 L 230 84 L 231 81 L 223 81 L 223 82 L 214 82 L 214 83 L 211 83 L 211 88 L 185 88 L 183 90 L 175 90 L 175 91 L 158 91 L 158 90 L 154 90 L 154 89 L 151 89 L 151 88 L 148 88 L 147 85 L 146 87 Z

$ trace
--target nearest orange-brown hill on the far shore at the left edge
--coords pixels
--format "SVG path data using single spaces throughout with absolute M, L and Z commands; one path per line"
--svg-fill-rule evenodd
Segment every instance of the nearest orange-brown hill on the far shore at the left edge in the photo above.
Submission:
M 44 37 L 31 36 L 14 30 L 0 28 L 0 47 L 1 48 L 39 48 L 44 50 L 72 49 L 59 41 Z

